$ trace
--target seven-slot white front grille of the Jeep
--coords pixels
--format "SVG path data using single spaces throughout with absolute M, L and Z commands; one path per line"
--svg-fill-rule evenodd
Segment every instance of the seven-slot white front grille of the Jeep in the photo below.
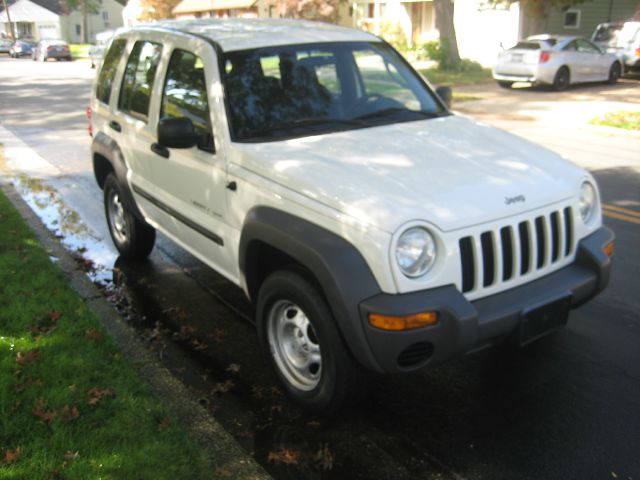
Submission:
M 463 237 L 459 246 L 463 293 L 531 274 L 571 255 L 571 207 Z

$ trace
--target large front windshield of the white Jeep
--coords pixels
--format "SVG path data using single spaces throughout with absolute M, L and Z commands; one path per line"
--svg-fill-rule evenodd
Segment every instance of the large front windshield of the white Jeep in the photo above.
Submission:
M 273 141 L 447 114 L 384 43 L 228 52 L 223 76 L 235 141 Z

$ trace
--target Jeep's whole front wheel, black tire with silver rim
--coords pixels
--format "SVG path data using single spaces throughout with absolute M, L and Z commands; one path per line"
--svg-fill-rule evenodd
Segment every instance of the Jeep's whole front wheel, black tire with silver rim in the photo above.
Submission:
M 326 300 L 304 276 L 272 273 L 260 287 L 258 337 L 287 395 L 330 415 L 365 392 L 366 375 L 347 350 Z

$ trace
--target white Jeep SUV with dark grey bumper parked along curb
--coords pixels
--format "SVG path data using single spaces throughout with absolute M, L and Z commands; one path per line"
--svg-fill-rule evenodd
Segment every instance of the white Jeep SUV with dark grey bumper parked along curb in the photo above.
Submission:
M 140 26 L 111 41 L 89 112 L 121 254 L 147 256 L 157 229 L 241 286 L 316 412 L 361 395 L 366 370 L 531 342 L 608 282 L 589 173 L 452 114 L 369 33 Z

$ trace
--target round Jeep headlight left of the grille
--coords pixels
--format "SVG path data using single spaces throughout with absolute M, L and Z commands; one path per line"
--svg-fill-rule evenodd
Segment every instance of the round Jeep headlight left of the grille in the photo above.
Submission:
M 400 235 L 396 243 L 396 261 L 407 277 L 421 277 L 436 260 L 436 241 L 422 227 L 412 227 Z

